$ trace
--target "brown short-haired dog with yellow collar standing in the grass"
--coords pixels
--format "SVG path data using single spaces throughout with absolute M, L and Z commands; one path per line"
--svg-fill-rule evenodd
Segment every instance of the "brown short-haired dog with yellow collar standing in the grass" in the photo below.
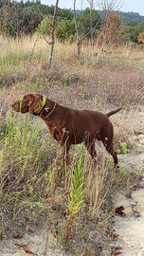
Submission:
M 98 111 L 75 110 L 56 104 L 38 93 L 27 94 L 21 101 L 15 101 L 12 108 L 17 112 L 29 112 L 44 119 L 50 134 L 62 147 L 65 146 L 65 158 L 71 144 L 84 142 L 92 158 L 98 160 L 95 140 L 99 139 L 117 165 L 117 152 L 113 145 L 113 125 L 108 118 L 121 108 L 106 115 Z

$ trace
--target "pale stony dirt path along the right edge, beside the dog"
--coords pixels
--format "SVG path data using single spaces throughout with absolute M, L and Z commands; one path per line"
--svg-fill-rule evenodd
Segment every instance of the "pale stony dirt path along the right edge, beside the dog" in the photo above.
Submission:
M 123 206 L 125 213 L 125 216 L 116 215 L 112 219 L 118 235 L 114 247 L 121 252 L 121 256 L 144 255 L 144 108 L 136 115 L 136 119 L 129 119 L 131 125 L 136 122 L 134 127 L 139 134 L 131 138 L 135 144 L 135 153 L 120 155 L 119 158 L 120 164 L 130 172 L 140 174 L 143 171 L 143 177 L 139 181 L 139 188 L 131 193 L 130 198 L 120 192 L 116 195 L 116 208 Z

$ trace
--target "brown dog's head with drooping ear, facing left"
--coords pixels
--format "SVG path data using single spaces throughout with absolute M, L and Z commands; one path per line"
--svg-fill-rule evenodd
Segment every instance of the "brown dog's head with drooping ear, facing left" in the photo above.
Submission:
M 11 106 L 17 112 L 29 112 L 32 114 L 42 107 L 42 100 L 36 93 L 29 93 L 25 95 L 22 100 L 15 101 Z

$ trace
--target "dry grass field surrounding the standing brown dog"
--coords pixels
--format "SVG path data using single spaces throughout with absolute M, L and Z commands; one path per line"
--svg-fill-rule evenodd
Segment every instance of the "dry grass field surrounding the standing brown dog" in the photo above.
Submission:
M 61 149 L 47 133 L 45 124 L 35 117 L 15 114 L 9 104 L 29 91 L 37 91 L 78 109 L 106 113 L 122 105 L 122 111 L 112 118 L 115 145 L 121 150 L 119 143 L 126 142 L 131 151 L 129 136 L 134 134 L 135 122 L 127 124 L 135 106 L 144 102 L 144 53 L 125 46 L 101 51 L 87 45 L 81 46 L 78 59 L 75 44 L 56 42 L 50 69 L 48 54 L 49 46 L 42 39 L 13 41 L 0 37 L 0 198 L 4 209 L 0 231 L 3 236 L 9 235 L 9 228 L 13 236 L 24 234 L 25 227 L 31 231 L 36 225 L 44 228 L 57 170 L 51 229 L 63 244 L 65 203 L 68 204 L 72 174 L 82 154 L 83 203 L 77 216 L 80 225 L 73 227 L 75 242 L 71 240 L 70 248 L 74 255 L 80 255 L 80 251 L 81 255 L 99 255 L 101 236 L 94 243 L 88 235 L 90 229 L 102 234 L 113 214 L 113 193 L 121 189 L 128 192 L 138 177 L 123 167 L 114 169 L 111 156 L 100 143 L 99 166 L 94 165 L 82 144 L 72 147 L 70 163 L 63 165 Z M 108 233 L 106 236 L 109 240 Z

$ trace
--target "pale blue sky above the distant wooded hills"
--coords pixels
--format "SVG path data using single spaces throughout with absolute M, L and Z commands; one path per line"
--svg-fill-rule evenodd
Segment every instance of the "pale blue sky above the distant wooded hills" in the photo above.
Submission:
M 94 0 L 94 3 L 98 2 L 99 0 Z M 109 3 L 112 1 L 118 1 L 119 0 L 109 0 Z M 81 2 L 82 2 L 82 9 L 85 9 L 89 7 L 87 0 L 76 0 L 76 9 L 81 9 Z M 55 5 L 56 0 L 41 0 L 41 3 L 44 5 Z M 59 0 L 58 7 L 61 9 L 73 9 L 74 6 L 74 0 Z M 122 6 L 120 11 L 128 12 L 138 12 L 140 15 L 144 16 L 144 0 L 120 0 L 120 6 Z M 95 9 L 99 9 L 97 6 Z

